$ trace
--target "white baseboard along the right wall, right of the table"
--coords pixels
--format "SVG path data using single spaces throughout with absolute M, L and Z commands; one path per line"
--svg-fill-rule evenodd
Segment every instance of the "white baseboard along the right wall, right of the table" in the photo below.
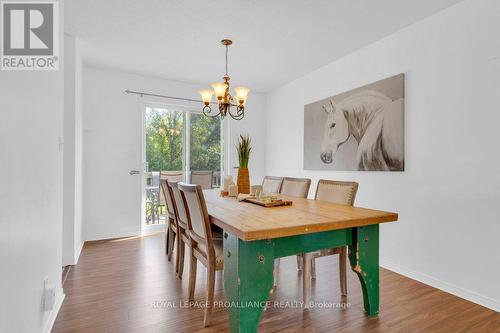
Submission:
M 401 265 L 395 264 L 391 261 L 387 260 L 381 260 L 380 261 L 380 266 L 388 269 L 390 271 L 393 271 L 395 273 L 404 275 L 410 279 L 425 283 L 431 287 L 440 289 L 442 291 L 445 291 L 449 294 L 458 296 L 460 298 L 463 298 L 465 300 L 468 300 L 470 302 L 485 306 L 493 311 L 500 312 L 500 301 L 493 299 L 488 296 L 484 296 L 481 294 L 478 294 L 476 292 L 464 289 L 462 287 L 456 286 L 454 284 L 436 279 L 432 276 L 429 276 L 424 273 L 416 272 L 414 270 L 411 270 L 407 267 L 403 267 Z

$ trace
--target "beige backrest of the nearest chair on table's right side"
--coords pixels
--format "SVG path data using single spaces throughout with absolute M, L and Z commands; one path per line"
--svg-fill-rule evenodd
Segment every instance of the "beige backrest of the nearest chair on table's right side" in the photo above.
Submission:
M 323 200 L 339 205 L 354 205 L 358 183 L 320 179 L 316 187 L 315 200 Z

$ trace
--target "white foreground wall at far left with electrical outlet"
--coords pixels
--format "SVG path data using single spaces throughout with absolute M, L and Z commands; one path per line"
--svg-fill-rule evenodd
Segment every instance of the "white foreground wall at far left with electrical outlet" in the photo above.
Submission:
M 48 332 L 63 300 L 62 135 L 62 69 L 0 71 L 0 332 Z

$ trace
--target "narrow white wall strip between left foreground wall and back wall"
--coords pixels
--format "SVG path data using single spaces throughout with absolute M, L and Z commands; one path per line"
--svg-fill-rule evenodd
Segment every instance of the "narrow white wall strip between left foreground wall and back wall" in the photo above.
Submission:
M 64 35 L 63 265 L 75 265 L 82 239 L 82 59 L 79 40 Z

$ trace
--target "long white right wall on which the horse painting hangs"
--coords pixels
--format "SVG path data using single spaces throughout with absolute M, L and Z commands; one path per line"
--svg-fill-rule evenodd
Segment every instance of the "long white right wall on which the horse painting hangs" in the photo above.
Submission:
M 357 205 L 400 214 L 381 227 L 383 266 L 497 311 L 499 12 L 461 2 L 272 91 L 266 113 L 267 174 L 358 181 Z M 398 73 L 406 171 L 303 170 L 304 105 Z

